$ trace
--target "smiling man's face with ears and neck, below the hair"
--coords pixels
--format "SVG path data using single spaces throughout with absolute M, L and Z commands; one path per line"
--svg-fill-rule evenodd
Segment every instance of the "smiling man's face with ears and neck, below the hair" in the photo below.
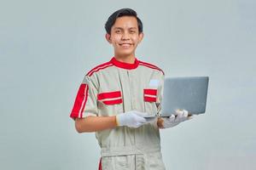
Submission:
M 119 17 L 111 28 L 111 35 L 106 39 L 113 45 L 117 57 L 135 57 L 137 44 L 143 40 L 143 32 L 139 34 L 137 19 L 133 16 Z

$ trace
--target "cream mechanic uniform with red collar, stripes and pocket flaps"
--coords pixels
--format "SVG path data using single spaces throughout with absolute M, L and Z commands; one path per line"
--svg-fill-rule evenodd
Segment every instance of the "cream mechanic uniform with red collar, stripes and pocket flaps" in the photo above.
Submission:
M 70 117 L 115 116 L 133 110 L 155 115 L 160 112 L 164 77 L 164 71 L 155 65 L 137 58 L 129 64 L 113 57 L 84 76 Z M 98 131 L 96 139 L 103 170 L 166 169 L 155 123 Z

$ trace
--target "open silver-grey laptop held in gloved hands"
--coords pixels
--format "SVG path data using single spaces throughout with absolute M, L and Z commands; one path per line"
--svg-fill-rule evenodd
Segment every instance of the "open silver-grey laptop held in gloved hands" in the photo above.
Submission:
M 175 115 L 177 109 L 187 110 L 189 115 L 205 113 L 208 82 L 209 77 L 167 77 L 164 82 L 162 108 L 155 116 Z

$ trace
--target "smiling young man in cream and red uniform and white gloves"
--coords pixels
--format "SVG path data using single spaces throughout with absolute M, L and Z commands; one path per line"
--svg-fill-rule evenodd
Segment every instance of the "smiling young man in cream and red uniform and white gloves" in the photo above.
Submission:
M 165 75 L 136 58 L 143 23 L 134 10 L 122 8 L 108 18 L 105 29 L 114 56 L 85 75 L 70 116 L 79 133 L 96 132 L 99 169 L 166 169 L 159 128 L 188 120 L 188 112 L 148 122 L 143 116 L 160 111 Z

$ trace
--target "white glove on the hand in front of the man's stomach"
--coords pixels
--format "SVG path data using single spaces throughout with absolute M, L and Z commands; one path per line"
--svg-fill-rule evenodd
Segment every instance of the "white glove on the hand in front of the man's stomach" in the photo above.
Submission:
M 147 116 L 148 113 L 140 111 L 127 111 L 116 116 L 117 126 L 127 127 L 140 127 L 143 124 L 148 123 L 143 116 Z

